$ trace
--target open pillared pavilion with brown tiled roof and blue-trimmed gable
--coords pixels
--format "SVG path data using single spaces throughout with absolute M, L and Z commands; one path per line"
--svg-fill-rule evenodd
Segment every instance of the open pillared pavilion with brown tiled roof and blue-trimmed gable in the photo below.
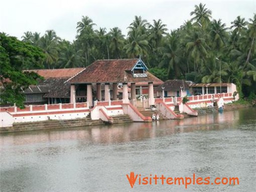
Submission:
M 118 98 L 129 103 L 129 100 L 133 102 L 140 95 L 147 95 L 150 104 L 154 105 L 154 87 L 163 83 L 148 72 L 141 59 L 97 60 L 69 82 L 70 102 L 74 103 L 77 96 L 84 95 L 89 106 L 93 106 L 94 100 Z

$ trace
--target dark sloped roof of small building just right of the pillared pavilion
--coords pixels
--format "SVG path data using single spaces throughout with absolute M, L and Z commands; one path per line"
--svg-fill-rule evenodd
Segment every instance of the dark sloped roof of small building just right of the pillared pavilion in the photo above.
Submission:
M 167 80 L 162 85 L 158 86 L 156 88 L 157 91 L 162 91 L 162 87 L 165 88 L 165 91 L 180 91 L 180 87 L 183 87 L 183 89 L 189 89 L 189 85 L 184 80 Z

